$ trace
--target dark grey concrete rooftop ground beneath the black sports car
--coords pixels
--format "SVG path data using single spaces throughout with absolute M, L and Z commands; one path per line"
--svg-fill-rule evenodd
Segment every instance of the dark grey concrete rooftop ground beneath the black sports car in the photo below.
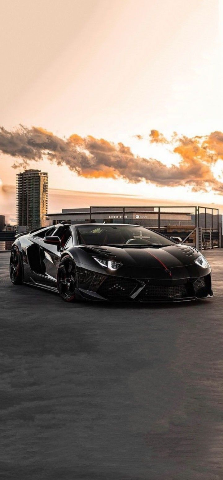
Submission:
M 214 298 L 66 304 L 0 254 L 0 478 L 223 479 L 223 250 Z

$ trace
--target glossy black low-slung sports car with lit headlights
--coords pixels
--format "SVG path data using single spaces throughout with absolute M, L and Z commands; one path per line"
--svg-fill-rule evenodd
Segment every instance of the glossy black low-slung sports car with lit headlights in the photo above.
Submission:
M 148 228 L 81 224 L 16 236 L 10 277 L 59 291 L 66 301 L 176 301 L 210 298 L 211 267 L 195 248 Z

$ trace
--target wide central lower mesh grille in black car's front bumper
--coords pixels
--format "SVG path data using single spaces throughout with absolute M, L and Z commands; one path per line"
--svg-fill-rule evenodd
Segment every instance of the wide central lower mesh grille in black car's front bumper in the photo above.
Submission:
M 145 299 L 178 299 L 189 297 L 186 285 L 176 285 L 174 287 L 164 287 L 162 285 L 148 285 L 142 292 Z

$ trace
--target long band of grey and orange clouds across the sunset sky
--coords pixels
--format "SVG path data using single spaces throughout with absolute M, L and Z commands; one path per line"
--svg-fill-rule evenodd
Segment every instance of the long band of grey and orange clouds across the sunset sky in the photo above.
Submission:
M 223 184 L 215 179 L 211 170 L 216 160 L 223 158 L 223 133 L 194 138 L 178 137 L 175 133 L 168 142 L 153 130 L 150 141 L 171 145 L 180 156 L 178 166 L 167 167 L 155 158 L 135 156 L 130 147 L 122 143 L 116 145 L 92 136 L 82 138 L 73 134 L 66 139 L 39 127 L 20 126 L 11 132 L 0 128 L 0 151 L 16 159 L 15 168 L 47 157 L 88 178 L 123 178 L 133 183 L 145 180 L 158 186 L 191 185 L 194 190 L 211 187 L 223 192 Z

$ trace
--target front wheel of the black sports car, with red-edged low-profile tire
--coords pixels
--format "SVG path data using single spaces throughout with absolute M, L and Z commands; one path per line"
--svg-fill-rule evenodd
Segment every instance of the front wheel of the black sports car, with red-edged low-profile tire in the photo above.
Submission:
M 75 301 L 77 287 L 76 265 L 69 255 L 65 255 L 57 271 L 57 288 L 64 301 Z

